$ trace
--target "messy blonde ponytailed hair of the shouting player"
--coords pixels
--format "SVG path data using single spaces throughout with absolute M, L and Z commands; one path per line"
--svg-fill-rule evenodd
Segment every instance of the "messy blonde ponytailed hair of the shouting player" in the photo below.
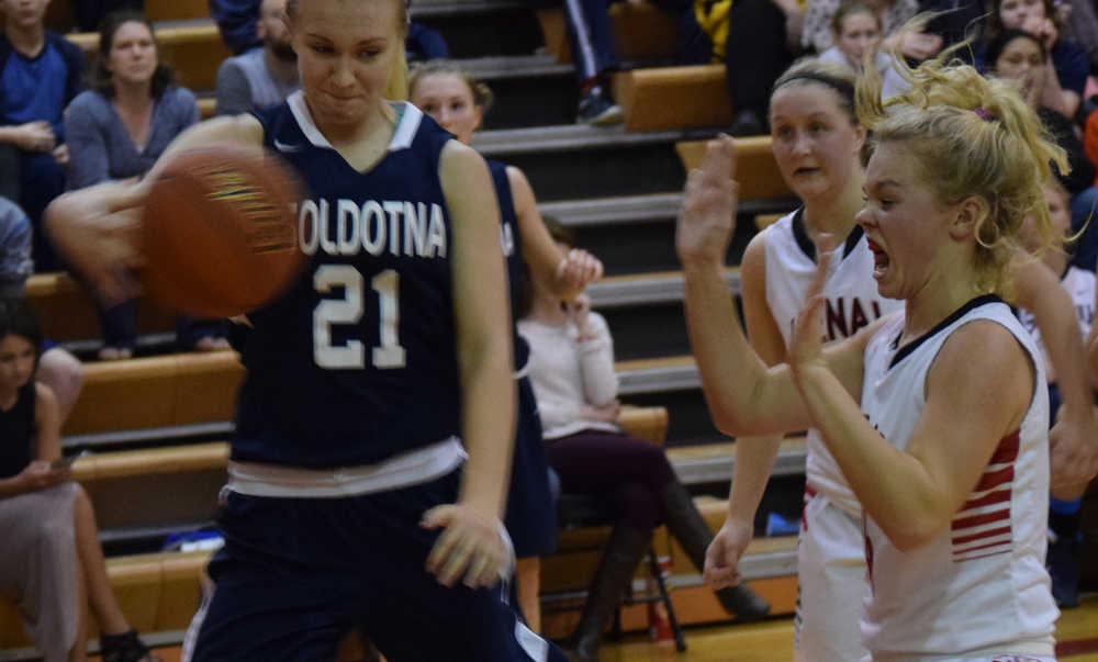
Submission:
M 901 30 L 921 24 L 917 16 Z M 975 269 L 984 291 L 1007 294 L 1008 262 L 1019 247 L 1018 232 L 1032 215 L 1044 246 L 1053 242 L 1041 187 L 1055 162 L 1067 158 L 1011 81 L 987 79 L 960 60 L 949 61 L 962 43 L 911 69 L 893 54 L 893 66 L 910 89 L 881 98 L 881 75 L 866 67 L 858 83 L 858 116 L 875 145 L 904 143 L 918 176 L 939 202 L 982 201 L 976 221 Z

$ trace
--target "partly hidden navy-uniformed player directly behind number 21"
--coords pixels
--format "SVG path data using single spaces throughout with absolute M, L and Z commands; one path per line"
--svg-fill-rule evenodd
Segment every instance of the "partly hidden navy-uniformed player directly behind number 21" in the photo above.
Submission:
M 484 113 L 492 106 L 492 90 L 455 61 L 436 59 L 417 67 L 408 82 L 408 99 L 470 144 Z M 603 271 L 602 263 L 584 250 L 561 251 L 538 214 L 534 190 L 523 171 L 489 161 L 500 202 L 501 237 L 511 277 L 513 318 L 524 290 L 526 272 L 550 283 L 557 296 L 579 294 Z M 529 349 L 515 334 L 515 374 L 525 374 Z M 541 425 L 529 379 L 518 379 L 519 407 L 511 490 L 504 524 L 515 546 L 515 587 L 518 606 L 534 631 L 541 629 L 538 598 L 538 557 L 556 549 L 557 527 L 548 481 Z

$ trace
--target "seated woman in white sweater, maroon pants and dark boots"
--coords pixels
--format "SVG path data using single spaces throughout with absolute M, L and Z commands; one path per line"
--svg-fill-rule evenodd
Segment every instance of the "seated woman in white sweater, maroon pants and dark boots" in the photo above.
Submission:
M 569 250 L 572 240 L 559 224 L 550 233 Z M 583 615 L 565 648 L 578 660 L 596 660 L 606 618 L 620 603 L 637 563 L 651 545 L 652 529 L 664 523 L 701 570 L 713 534 L 690 493 L 679 482 L 663 449 L 623 434 L 615 424 L 617 374 L 606 321 L 591 311 L 585 294 L 562 301 L 544 278 L 531 278 L 529 314 L 518 330 L 530 345 L 530 381 L 550 467 L 565 493 L 596 495 L 616 521 L 587 588 Z M 743 585 L 716 592 L 741 621 L 770 611 Z

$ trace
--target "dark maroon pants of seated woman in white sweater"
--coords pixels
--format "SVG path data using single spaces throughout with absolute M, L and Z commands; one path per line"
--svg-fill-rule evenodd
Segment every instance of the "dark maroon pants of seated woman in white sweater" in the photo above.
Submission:
M 663 449 L 620 433 L 584 430 L 546 441 L 546 459 L 562 492 L 591 494 L 617 520 L 650 530 L 663 521 L 661 494 L 675 479 Z

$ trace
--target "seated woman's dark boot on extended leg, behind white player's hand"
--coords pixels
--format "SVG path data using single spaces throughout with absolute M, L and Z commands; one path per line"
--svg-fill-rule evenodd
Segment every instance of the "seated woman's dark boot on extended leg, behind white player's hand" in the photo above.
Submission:
M 694 562 L 698 571 L 705 569 L 705 550 L 713 541 L 709 525 L 694 507 L 690 492 L 679 481 L 672 481 L 663 490 L 663 518 L 668 530 L 682 545 L 686 556 Z M 754 591 L 743 584 L 729 586 L 715 592 L 720 605 L 729 614 L 736 615 L 741 621 L 760 620 L 770 614 L 766 604 Z

